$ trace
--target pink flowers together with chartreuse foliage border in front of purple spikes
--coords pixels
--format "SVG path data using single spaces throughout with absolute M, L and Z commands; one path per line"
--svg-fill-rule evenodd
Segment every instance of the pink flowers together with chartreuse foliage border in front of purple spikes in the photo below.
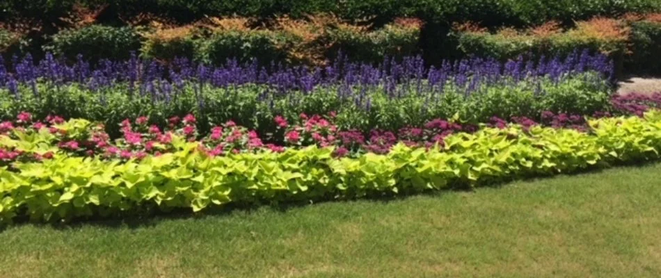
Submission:
M 560 124 L 563 119 L 557 115 L 551 122 Z M 116 145 L 99 146 L 106 138 L 95 133 L 96 129 L 89 129 L 86 121 L 61 122 L 52 117 L 49 120 L 55 126 L 27 127 L 30 120 L 29 115 L 22 114 L 16 123 L 22 126 L 2 127 L 3 156 L 7 151 L 17 154 L 8 165 L 0 167 L 0 220 L 4 222 L 23 216 L 56 220 L 108 215 L 144 206 L 200 211 L 212 204 L 418 193 L 639 163 L 658 159 L 661 150 L 658 111 L 644 117 L 589 120 L 580 130 L 543 127 L 518 119 L 521 124 L 495 120 L 495 127 L 481 126 L 467 133 L 456 132 L 459 126 L 438 120 L 423 131 L 403 131 L 401 142 L 388 147 L 387 152 L 367 145 L 363 147 L 366 153 L 354 154 L 340 154 L 340 148 L 330 146 L 269 146 L 270 150 L 262 150 L 257 136 L 232 123 L 214 129 L 209 138 L 199 142 L 186 140 L 193 133 L 186 131 L 193 117 L 173 121 L 184 127 L 168 133 L 157 132 L 146 125 L 145 119 L 138 119 L 137 128 L 152 133 L 148 135 L 148 142 L 154 142 L 152 150 L 143 144 L 143 133 L 134 133 L 131 122 L 122 126 L 125 138 Z M 323 132 L 333 131 L 323 120 L 308 118 L 309 129 L 308 124 L 291 127 L 282 119 L 278 123 L 287 130 L 290 144 L 308 140 L 322 145 L 331 141 Z M 442 143 L 419 145 L 427 139 L 402 140 L 406 136 L 425 138 L 425 131 L 434 131 Z M 301 134 L 305 132 L 312 135 Z M 89 140 L 81 144 L 74 140 L 77 136 Z M 360 145 L 351 136 L 340 136 L 339 141 Z M 392 137 L 379 135 L 376 140 L 370 138 L 370 143 L 390 142 Z M 155 151 L 156 144 L 165 147 Z M 234 146 L 230 152 L 226 152 L 228 146 Z M 81 149 L 86 147 L 90 149 Z M 113 154 L 109 152 L 112 147 L 122 149 Z M 142 155 L 129 158 L 122 154 L 136 150 Z

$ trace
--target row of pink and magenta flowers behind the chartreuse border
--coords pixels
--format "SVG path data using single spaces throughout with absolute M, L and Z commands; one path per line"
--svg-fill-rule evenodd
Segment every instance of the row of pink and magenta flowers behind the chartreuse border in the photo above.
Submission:
M 0 123 L 0 165 L 10 165 L 15 161 L 42 161 L 57 154 L 98 156 L 103 159 L 142 159 L 148 155 L 160 156 L 175 152 L 173 140 L 197 142 L 200 151 L 209 156 L 262 150 L 284 152 L 288 148 L 317 145 L 336 147 L 333 152 L 335 157 L 355 157 L 365 153 L 386 154 L 397 142 L 408 147 L 427 149 L 435 145 L 443 146 L 445 137 L 457 132 L 473 133 L 479 128 L 477 125 L 436 119 L 422 126 L 407 126 L 397 132 L 375 129 L 365 134 L 358 130 L 340 129 L 335 124 L 336 117 L 336 113 L 326 117 L 301 113 L 297 119 L 300 124 L 289 124 L 285 117 L 278 115 L 273 119 L 278 132 L 271 135 L 270 140 L 283 144 L 275 145 L 264 144 L 256 131 L 232 121 L 212 127 L 211 133 L 200 138 L 196 117 L 190 114 L 183 118 L 170 117 L 165 129 L 150 124 L 148 117 L 138 117 L 133 121 L 126 119 L 120 124 L 122 137 L 111 140 L 102 124 L 93 124 L 87 120 L 65 122 L 58 116 L 49 116 L 44 122 L 33 121 L 33 115 L 22 112 L 15 121 Z M 509 122 L 520 124 L 525 130 L 541 124 L 589 131 L 585 118 L 579 115 L 555 115 L 545 111 L 541 117 L 543 120 L 539 123 L 527 117 L 512 117 Z M 509 122 L 492 117 L 486 126 L 504 129 Z M 281 138 L 274 138 L 278 136 Z

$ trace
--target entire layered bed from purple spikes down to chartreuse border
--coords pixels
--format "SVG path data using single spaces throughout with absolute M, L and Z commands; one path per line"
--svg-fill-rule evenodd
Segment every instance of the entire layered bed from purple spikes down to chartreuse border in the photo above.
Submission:
M 0 219 L 408 195 L 655 161 L 661 95 L 613 96 L 612 70 L 589 51 L 439 69 L 26 57 L 0 69 Z

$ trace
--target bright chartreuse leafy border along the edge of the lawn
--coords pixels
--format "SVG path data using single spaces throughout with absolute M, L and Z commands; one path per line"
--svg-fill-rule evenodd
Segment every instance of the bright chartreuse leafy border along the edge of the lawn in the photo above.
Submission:
M 141 161 L 62 154 L 0 169 L 0 220 L 48 221 L 231 202 L 286 202 L 418 193 L 456 185 L 568 173 L 658 159 L 661 113 L 591 120 L 592 131 L 532 126 L 458 133 L 440 149 L 397 145 L 388 154 L 333 158 L 332 149 L 209 157 L 194 142 Z

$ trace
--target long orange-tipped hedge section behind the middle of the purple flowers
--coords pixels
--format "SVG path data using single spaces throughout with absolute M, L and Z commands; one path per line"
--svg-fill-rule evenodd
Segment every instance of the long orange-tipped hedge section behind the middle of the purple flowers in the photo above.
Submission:
M 401 60 L 419 53 L 422 23 L 417 19 L 397 19 L 376 30 L 324 15 L 309 19 L 281 18 L 271 29 L 249 28 L 241 18 L 216 19 L 221 26 L 154 28 L 143 32 L 141 56 L 195 58 L 215 65 L 230 58 L 266 65 L 324 65 L 340 54 L 351 61 L 381 63 L 384 57 Z M 228 22 L 239 26 L 223 26 Z

